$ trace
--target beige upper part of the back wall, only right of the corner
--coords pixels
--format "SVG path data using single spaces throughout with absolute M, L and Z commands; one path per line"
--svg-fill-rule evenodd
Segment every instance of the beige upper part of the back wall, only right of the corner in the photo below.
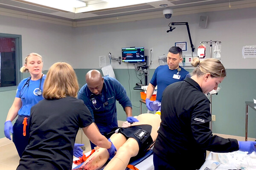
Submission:
M 200 28 L 200 15 L 208 16 L 207 28 Z M 256 8 L 242 8 L 227 11 L 214 11 L 199 14 L 173 16 L 171 19 L 156 18 L 126 23 L 105 24 L 74 28 L 76 36 L 77 68 L 99 68 L 99 56 L 121 56 L 122 47 L 144 46 L 145 54 L 150 56 L 154 49 L 151 68 L 157 68 L 157 59 L 167 54 L 175 42 L 186 41 L 191 54 L 186 26 L 175 26 L 176 29 L 166 33 L 170 22 L 188 22 L 195 53 L 201 41 L 221 41 L 221 60 L 226 68 L 256 68 L 256 59 L 244 59 L 242 47 L 254 45 L 256 34 Z M 209 44 L 208 44 L 209 45 Z M 209 46 L 207 46 L 209 57 Z M 127 64 L 112 61 L 113 68 L 127 68 Z M 129 65 L 133 68 L 133 65 Z

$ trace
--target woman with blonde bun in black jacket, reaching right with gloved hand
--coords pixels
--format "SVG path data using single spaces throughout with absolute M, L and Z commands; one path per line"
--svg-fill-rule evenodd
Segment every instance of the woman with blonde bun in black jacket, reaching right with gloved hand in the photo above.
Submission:
M 226 77 L 218 59 L 194 57 L 192 77 L 169 85 L 163 92 L 158 136 L 153 148 L 154 170 L 198 170 L 206 150 L 252 153 L 256 142 L 225 139 L 212 134 L 210 102 L 205 94 L 216 90 Z

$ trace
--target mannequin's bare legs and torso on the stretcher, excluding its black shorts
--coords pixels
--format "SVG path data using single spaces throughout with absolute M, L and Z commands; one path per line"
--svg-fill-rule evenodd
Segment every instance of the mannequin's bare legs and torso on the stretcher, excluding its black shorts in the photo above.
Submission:
M 137 116 L 139 122 L 134 122 L 131 126 L 136 125 L 151 125 L 151 137 L 153 141 L 157 138 L 157 130 L 160 126 L 160 115 L 144 113 Z M 131 157 L 137 156 L 139 153 L 138 142 L 129 137 L 128 139 L 122 133 L 114 133 L 111 137 L 111 142 L 115 145 L 117 152 L 116 155 L 108 162 L 104 170 L 125 170 Z M 149 147 L 148 147 L 149 148 Z M 108 151 L 104 148 L 96 150 L 80 168 L 84 170 L 99 170 L 108 160 Z

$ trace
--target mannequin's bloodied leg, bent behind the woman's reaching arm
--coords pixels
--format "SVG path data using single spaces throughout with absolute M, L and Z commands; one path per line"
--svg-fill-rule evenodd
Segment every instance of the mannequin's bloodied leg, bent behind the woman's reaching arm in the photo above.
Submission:
M 117 150 L 126 142 L 125 136 L 121 133 L 114 133 L 110 139 Z M 81 168 L 84 168 L 84 170 L 99 170 L 108 161 L 108 158 L 108 150 L 99 148 L 81 165 Z

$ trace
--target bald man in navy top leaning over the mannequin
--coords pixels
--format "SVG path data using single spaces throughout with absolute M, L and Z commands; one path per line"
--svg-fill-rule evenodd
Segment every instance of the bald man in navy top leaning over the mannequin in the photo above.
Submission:
M 120 82 L 112 77 L 102 77 L 97 70 L 88 71 L 85 79 L 87 84 L 80 89 L 78 99 L 84 101 L 102 135 L 106 136 L 118 126 L 116 100 L 124 108 L 128 122 L 138 121 L 132 116 L 131 101 Z M 93 149 L 95 145 L 90 143 Z

